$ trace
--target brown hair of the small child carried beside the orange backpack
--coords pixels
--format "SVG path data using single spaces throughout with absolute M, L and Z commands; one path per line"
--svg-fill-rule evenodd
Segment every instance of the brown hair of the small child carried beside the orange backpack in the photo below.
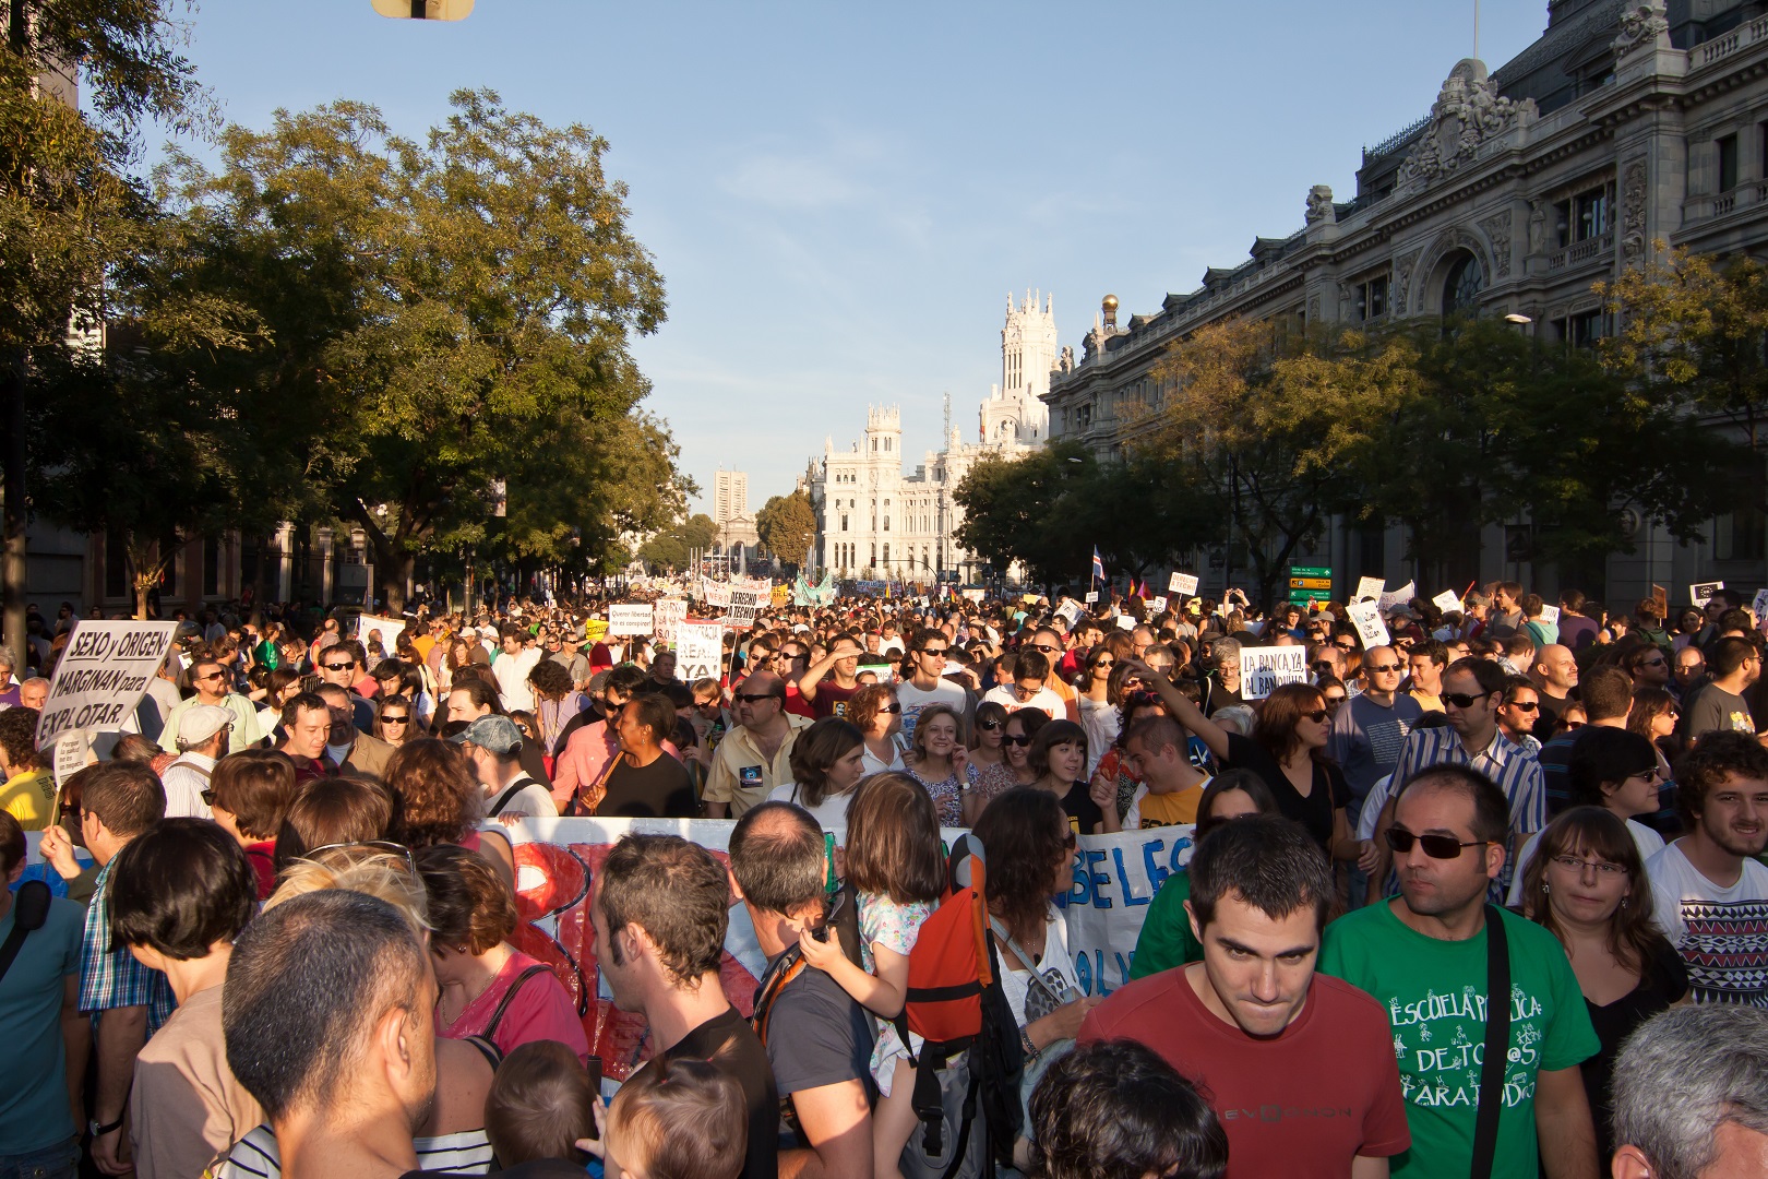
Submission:
M 934 795 L 909 774 L 872 774 L 847 806 L 847 882 L 898 905 L 946 891 L 946 854 Z

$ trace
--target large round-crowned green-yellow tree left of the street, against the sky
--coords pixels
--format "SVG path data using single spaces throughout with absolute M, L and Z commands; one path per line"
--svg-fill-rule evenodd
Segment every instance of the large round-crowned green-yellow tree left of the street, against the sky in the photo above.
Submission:
M 492 544 L 594 564 L 691 490 L 638 415 L 629 341 L 661 323 L 663 283 L 606 141 L 490 92 L 453 106 L 423 141 L 336 103 L 230 127 L 212 171 L 173 157 L 136 288 L 168 348 L 198 293 L 256 316 L 242 346 L 179 359 L 258 422 L 267 500 L 364 530 L 394 608 L 419 553 L 488 541 L 504 493 Z

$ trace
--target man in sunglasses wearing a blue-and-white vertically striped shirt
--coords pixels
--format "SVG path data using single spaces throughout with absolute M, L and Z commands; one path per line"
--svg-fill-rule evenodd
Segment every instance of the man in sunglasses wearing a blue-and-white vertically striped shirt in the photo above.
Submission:
M 1497 730 L 1497 705 L 1508 677 L 1490 659 L 1457 659 L 1443 675 L 1448 728 L 1420 728 L 1406 737 L 1393 781 L 1407 781 L 1432 765 L 1466 765 L 1503 790 L 1510 811 L 1508 854 L 1547 825 L 1547 788 L 1540 764 Z M 1499 891 L 1510 887 L 1510 856 L 1501 864 Z

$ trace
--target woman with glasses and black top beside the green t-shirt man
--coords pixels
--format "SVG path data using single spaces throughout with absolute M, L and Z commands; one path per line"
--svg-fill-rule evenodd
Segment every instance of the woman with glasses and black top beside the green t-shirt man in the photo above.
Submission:
M 1611 732 L 1637 737 L 1597 728 L 1579 744 Z M 1538 838 L 1540 854 L 1517 875 L 1524 914 L 1565 946 L 1602 1041 L 1602 1050 L 1581 1066 L 1598 1160 L 1614 1152 L 1609 1137 L 1614 1053 L 1634 1029 L 1688 995 L 1681 956 L 1651 921 L 1651 884 L 1635 827 L 1609 808 L 1574 806 L 1547 824 Z

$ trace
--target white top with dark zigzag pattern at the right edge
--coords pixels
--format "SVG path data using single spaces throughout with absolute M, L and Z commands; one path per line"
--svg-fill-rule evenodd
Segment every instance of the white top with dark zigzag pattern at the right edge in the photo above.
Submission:
M 1681 840 L 1646 861 L 1657 926 L 1688 967 L 1696 1002 L 1768 1006 L 1768 866 L 1745 857 L 1738 882 L 1718 887 L 1688 863 Z

